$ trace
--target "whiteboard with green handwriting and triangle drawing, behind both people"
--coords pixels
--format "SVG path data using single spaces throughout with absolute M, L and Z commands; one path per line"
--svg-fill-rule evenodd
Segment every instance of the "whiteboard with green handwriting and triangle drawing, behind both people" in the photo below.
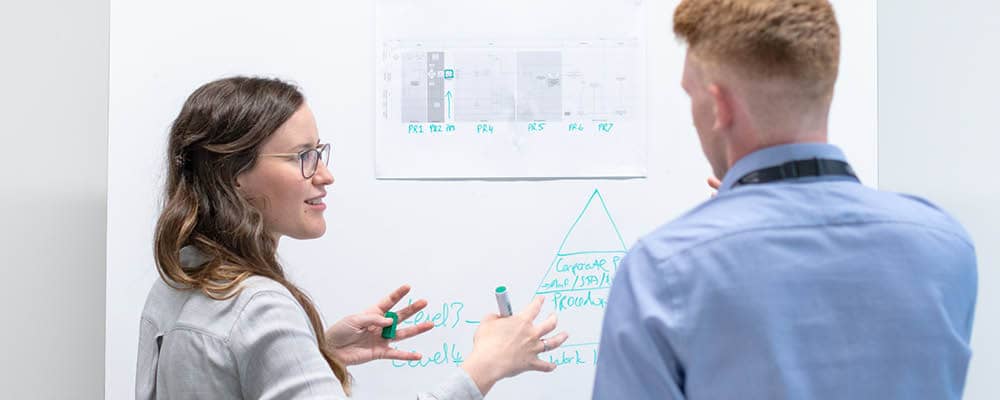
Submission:
M 454 372 L 455 353 L 468 354 L 475 321 L 496 311 L 496 286 L 510 288 L 515 309 L 547 292 L 544 316 L 554 311 L 551 282 L 566 272 L 557 271 L 560 258 L 571 265 L 603 259 L 604 268 L 613 267 L 639 236 L 708 198 L 710 168 L 679 87 L 684 49 L 670 25 L 676 3 L 647 4 L 646 178 L 415 181 L 375 177 L 372 3 L 112 0 L 107 398 L 133 396 L 139 315 L 157 279 L 152 230 L 166 134 L 197 86 L 252 74 L 304 89 L 320 136 L 335 145 L 336 183 L 327 197 L 326 236 L 283 239 L 282 260 L 328 322 L 403 283 L 413 286 L 413 299 L 430 302 L 423 318 L 440 314 L 442 326 L 399 347 L 437 361 L 351 369 L 357 398 L 409 399 Z M 834 4 L 844 53 L 831 141 L 875 185 L 875 5 Z M 502 381 L 490 398 L 589 398 L 600 313 L 560 316 L 574 345 L 554 354 L 564 365 Z

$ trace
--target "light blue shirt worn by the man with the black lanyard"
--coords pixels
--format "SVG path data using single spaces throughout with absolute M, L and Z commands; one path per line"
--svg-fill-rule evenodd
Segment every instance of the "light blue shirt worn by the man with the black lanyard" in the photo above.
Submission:
M 827 144 L 740 159 L 617 271 L 594 399 L 959 399 L 971 240 L 925 200 L 843 176 L 733 187 Z

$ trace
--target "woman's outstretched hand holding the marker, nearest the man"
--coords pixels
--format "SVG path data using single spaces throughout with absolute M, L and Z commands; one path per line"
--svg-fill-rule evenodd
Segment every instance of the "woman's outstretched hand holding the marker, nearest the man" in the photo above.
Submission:
M 523 311 L 510 317 L 501 318 L 497 314 L 483 317 L 472 339 L 472 353 L 462 363 L 462 369 L 483 395 L 503 378 L 525 371 L 556 369 L 555 364 L 539 359 L 538 354 L 558 348 L 569 334 L 544 337 L 556 328 L 555 314 L 538 325 L 533 324 L 544 302 L 545 298 L 538 296 Z

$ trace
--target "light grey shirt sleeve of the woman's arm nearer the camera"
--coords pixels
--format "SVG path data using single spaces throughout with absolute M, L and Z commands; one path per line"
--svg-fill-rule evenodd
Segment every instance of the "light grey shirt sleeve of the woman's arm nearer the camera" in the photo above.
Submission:
M 287 294 L 253 295 L 233 328 L 230 346 L 236 358 L 243 397 L 248 399 L 345 399 L 316 345 L 309 319 Z M 482 400 L 472 378 L 459 370 L 417 400 Z

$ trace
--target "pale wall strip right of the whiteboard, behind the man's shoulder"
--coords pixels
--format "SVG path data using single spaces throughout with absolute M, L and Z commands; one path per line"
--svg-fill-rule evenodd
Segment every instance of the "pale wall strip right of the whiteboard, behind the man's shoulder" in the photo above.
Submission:
M 979 302 L 967 399 L 1000 398 L 1000 3 L 878 2 L 879 183 L 969 230 Z

